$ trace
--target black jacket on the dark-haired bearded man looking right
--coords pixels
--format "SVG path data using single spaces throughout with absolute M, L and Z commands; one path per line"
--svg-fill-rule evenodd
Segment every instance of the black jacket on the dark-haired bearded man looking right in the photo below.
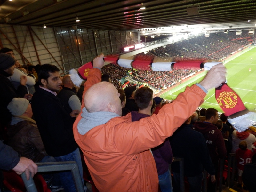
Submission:
M 73 135 L 73 121 L 60 99 L 38 87 L 31 105 L 46 153 L 56 157 L 73 152 L 78 147 Z

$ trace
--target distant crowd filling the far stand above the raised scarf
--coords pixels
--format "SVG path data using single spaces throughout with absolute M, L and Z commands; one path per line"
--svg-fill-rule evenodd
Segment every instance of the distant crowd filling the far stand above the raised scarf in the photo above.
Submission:
M 158 47 L 147 55 L 155 55 L 163 60 L 220 60 L 232 52 L 252 43 L 254 36 L 249 36 L 247 31 L 236 35 L 235 31 L 228 33 L 210 33 L 209 37 L 197 36 L 175 44 Z M 141 53 L 142 54 L 142 53 Z M 141 56 L 140 56 L 141 57 Z

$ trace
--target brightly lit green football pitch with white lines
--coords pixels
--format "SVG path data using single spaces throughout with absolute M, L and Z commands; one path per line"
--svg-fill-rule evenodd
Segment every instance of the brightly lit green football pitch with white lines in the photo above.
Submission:
M 252 58 L 252 60 L 251 60 Z M 256 110 L 256 48 L 251 46 L 243 52 L 239 52 L 231 58 L 227 59 L 225 66 L 228 69 L 228 86 L 231 87 L 242 99 L 246 108 L 250 111 Z M 251 71 L 249 71 L 251 68 Z M 177 95 L 185 91 L 187 86 L 199 83 L 207 71 L 200 73 L 188 81 L 180 84 L 179 86 L 163 93 L 160 97 L 171 100 L 175 99 Z M 204 98 L 204 103 L 200 106 L 202 108 L 216 108 L 219 112 L 220 109 L 217 101 L 215 100 L 215 89 L 208 92 Z

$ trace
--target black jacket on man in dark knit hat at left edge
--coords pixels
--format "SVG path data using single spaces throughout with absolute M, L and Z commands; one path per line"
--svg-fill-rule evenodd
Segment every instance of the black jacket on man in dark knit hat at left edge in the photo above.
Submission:
M 9 75 L 0 70 L 0 123 L 6 126 L 11 121 L 12 114 L 7 109 L 7 105 L 14 97 L 24 97 L 27 94 L 27 87 L 19 85 L 17 89 L 14 88 L 12 82 L 7 78 Z

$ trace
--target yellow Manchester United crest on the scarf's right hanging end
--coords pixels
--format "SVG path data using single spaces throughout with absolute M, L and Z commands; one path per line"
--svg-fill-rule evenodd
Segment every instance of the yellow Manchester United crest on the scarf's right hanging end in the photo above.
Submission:
M 223 108 L 233 108 L 237 104 L 237 95 L 234 92 L 222 92 L 217 99 L 219 105 Z

